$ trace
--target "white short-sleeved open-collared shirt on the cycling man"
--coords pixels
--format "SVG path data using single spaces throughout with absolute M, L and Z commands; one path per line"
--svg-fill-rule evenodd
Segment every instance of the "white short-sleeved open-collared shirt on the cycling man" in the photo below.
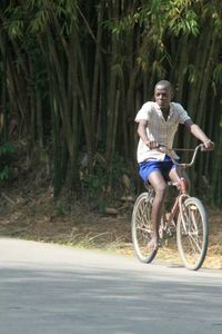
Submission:
M 184 124 L 189 119 L 191 118 L 188 112 L 176 102 L 170 104 L 170 112 L 167 120 L 159 105 L 152 101 L 145 102 L 135 116 L 137 122 L 140 120 L 148 121 L 147 134 L 149 140 L 158 141 L 160 145 L 169 148 L 172 148 L 179 124 Z M 137 156 L 138 163 L 142 163 L 145 160 L 163 160 L 165 154 L 157 149 L 150 149 L 140 138 Z

